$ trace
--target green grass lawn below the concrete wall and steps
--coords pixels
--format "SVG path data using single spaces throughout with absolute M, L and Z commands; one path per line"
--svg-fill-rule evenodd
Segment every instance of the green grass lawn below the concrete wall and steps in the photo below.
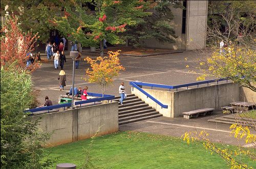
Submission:
M 80 168 L 85 158 L 83 148 L 88 149 L 90 142 L 85 139 L 47 150 L 52 151 L 51 156 L 59 156 L 57 163 L 74 163 Z M 100 159 L 94 164 L 101 168 L 229 168 L 201 144 L 187 145 L 180 138 L 133 131 L 96 137 L 91 154 Z

